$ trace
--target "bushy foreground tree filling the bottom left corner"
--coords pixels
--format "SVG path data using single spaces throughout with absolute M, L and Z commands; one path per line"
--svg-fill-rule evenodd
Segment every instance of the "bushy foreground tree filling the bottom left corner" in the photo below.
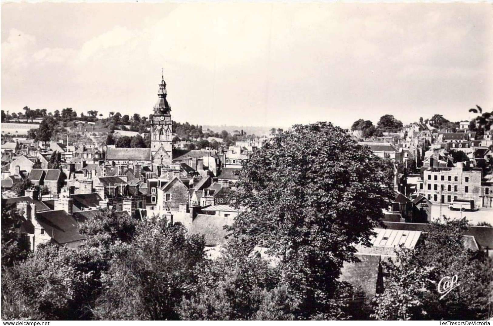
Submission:
M 91 319 L 107 262 L 100 244 L 38 245 L 35 255 L 2 272 L 2 319 Z

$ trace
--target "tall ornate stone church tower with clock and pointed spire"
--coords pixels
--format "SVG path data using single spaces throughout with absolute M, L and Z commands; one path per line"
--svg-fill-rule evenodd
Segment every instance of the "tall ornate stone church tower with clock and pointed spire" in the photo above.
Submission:
M 155 165 L 170 167 L 173 152 L 171 107 L 166 100 L 166 82 L 161 75 L 158 101 L 154 106 L 151 121 L 151 161 Z

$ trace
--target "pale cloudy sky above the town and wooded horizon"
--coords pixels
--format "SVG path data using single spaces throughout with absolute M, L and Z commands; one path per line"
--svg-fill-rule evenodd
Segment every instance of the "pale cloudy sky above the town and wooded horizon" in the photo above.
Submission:
M 1 109 L 342 127 L 493 108 L 492 3 L 2 3 Z

